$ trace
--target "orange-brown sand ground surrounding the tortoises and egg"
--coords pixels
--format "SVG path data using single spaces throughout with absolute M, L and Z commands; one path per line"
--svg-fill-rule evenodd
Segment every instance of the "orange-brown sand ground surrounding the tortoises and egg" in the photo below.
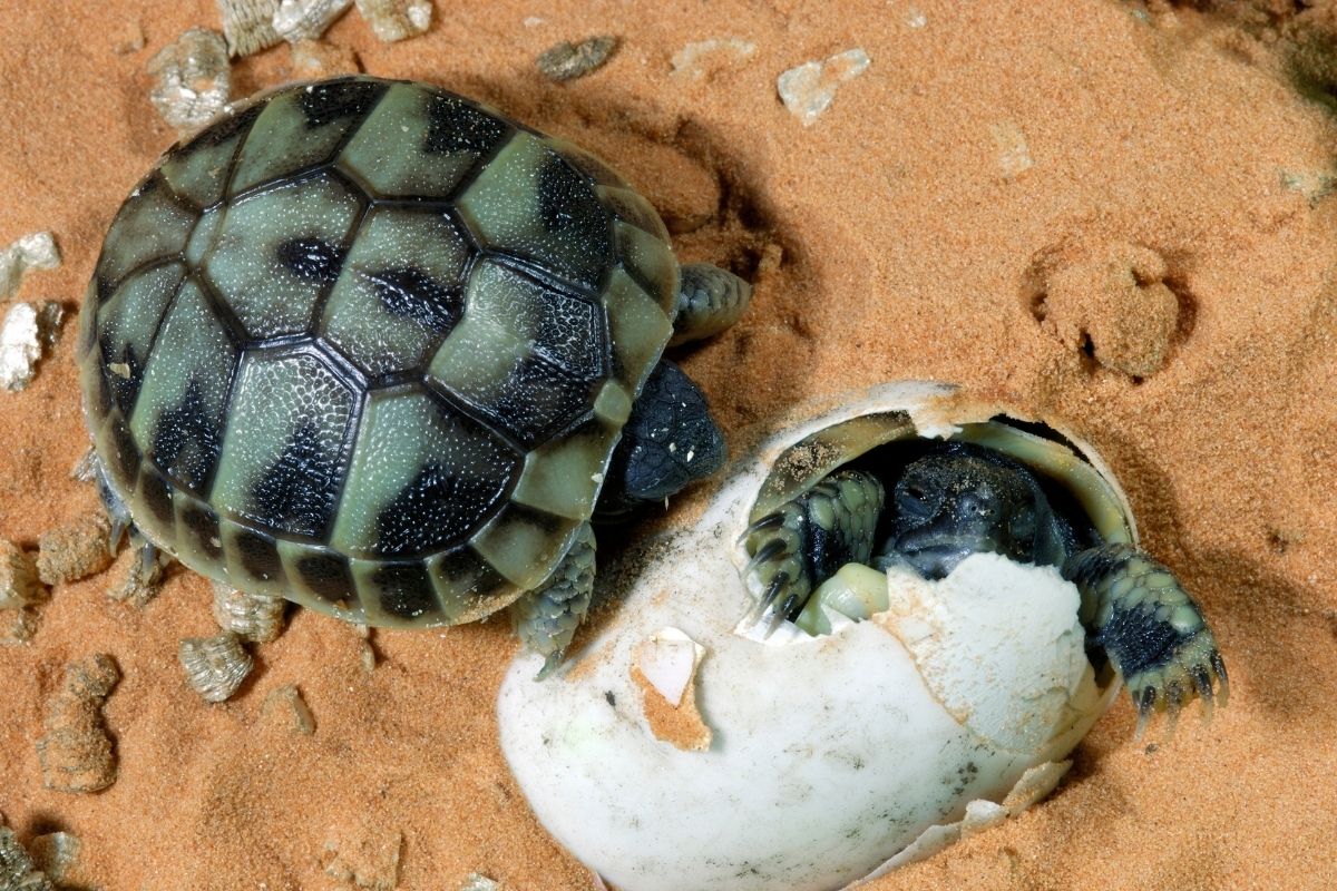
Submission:
M 1055 413 L 1103 450 L 1144 544 L 1215 627 L 1233 689 L 1213 724 L 1134 741 L 1120 700 L 1050 800 L 877 891 L 1337 883 L 1337 128 L 1296 95 L 1275 16 L 1098 0 L 436 7 L 401 44 L 356 15 L 326 40 L 607 156 L 687 259 L 749 270 L 782 250 L 750 315 L 685 361 L 735 454 L 806 398 L 889 378 Z M 218 15 L 210 0 L 0 0 L 0 243 L 52 230 L 64 266 L 20 298 L 74 309 L 118 204 L 174 139 L 146 63 Z M 144 48 L 114 52 L 136 27 Z M 623 41 L 603 69 L 566 85 L 535 72 L 547 47 L 596 33 Z M 711 37 L 755 52 L 671 73 Z M 872 65 L 802 127 L 777 75 L 852 47 Z M 283 47 L 239 63 L 234 96 L 287 67 Z M 71 318 L 33 385 L 0 394 L 0 536 L 25 546 L 95 506 L 68 476 L 86 449 L 72 334 Z M 590 887 L 493 743 L 504 622 L 376 633 L 368 675 L 350 628 L 298 613 L 241 695 L 205 705 L 175 653 L 214 632 L 209 586 L 178 573 L 140 610 L 108 602 L 108 578 L 57 589 L 35 641 L 0 648 L 0 812 L 24 842 L 79 835 L 90 884 L 346 887 L 322 871 L 325 844 L 401 832 L 404 888 L 471 872 Z M 119 777 L 44 791 L 43 704 L 98 651 L 124 675 L 104 709 Z M 261 719 L 293 683 L 313 736 Z

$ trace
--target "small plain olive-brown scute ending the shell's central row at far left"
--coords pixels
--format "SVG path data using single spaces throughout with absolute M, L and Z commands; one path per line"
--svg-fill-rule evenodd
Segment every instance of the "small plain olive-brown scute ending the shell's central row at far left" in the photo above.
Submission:
M 144 264 L 180 254 L 199 214 L 183 207 L 154 171 L 130 192 L 107 230 L 98 278 L 112 285 Z

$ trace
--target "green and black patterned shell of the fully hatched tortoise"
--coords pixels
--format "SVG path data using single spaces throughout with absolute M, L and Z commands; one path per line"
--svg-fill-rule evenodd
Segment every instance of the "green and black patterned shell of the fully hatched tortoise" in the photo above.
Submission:
M 174 146 L 80 318 L 106 481 L 191 569 L 350 621 L 469 621 L 588 520 L 668 341 L 659 215 L 431 85 L 279 88 Z

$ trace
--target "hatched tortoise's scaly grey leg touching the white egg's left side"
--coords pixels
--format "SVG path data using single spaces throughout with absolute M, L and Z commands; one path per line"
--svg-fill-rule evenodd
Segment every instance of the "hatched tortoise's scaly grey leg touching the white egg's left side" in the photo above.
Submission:
M 594 529 L 576 530 L 571 550 L 548 581 L 511 605 L 511 621 L 520 640 L 544 657 L 535 680 L 543 680 L 562 664 L 576 628 L 590 612 L 594 597 Z

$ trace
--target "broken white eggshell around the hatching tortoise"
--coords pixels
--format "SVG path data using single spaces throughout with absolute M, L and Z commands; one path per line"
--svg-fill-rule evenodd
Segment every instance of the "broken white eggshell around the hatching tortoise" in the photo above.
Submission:
M 893 410 L 924 437 L 997 414 L 909 382 L 786 430 L 726 472 L 691 529 L 600 568 L 618 605 L 560 675 L 535 681 L 532 653 L 511 667 L 497 703 L 511 769 L 612 886 L 829 891 L 880 875 L 1043 797 L 1116 692 L 1086 657 L 1076 589 L 996 554 L 941 581 L 893 573 L 889 609 L 832 617 L 829 635 L 741 624 L 754 600 L 738 541 L 777 457 Z

